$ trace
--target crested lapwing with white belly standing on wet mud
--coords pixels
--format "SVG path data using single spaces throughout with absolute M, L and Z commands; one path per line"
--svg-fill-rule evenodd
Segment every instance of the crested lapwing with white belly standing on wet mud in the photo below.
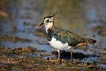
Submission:
M 58 51 L 57 61 L 59 62 L 61 61 L 60 51 L 67 49 L 70 50 L 71 61 L 73 61 L 72 58 L 73 47 L 80 45 L 94 44 L 96 43 L 96 40 L 80 36 L 66 29 L 56 27 L 54 23 L 54 17 L 56 14 L 57 12 L 53 15 L 44 17 L 40 26 L 42 25 L 45 26 L 48 43 Z

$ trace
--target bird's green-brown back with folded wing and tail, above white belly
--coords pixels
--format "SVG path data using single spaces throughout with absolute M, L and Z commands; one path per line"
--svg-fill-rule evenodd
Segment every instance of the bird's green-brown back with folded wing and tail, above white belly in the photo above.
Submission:
M 54 35 L 57 40 L 60 40 L 62 43 L 67 43 L 70 46 L 78 46 L 83 44 L 93 44 L 96 40 L 91 38 L 85 38 L 80 35 L 77 35 L 71 31 L 55 28 Z

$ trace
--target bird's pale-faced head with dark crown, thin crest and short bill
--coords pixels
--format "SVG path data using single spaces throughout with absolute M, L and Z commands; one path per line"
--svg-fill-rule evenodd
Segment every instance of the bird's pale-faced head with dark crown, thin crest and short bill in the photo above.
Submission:
M 52 16 L 46 16 L 43 19 L 43 22 L 40 24 L 40 26 L 44 25 L 46 28 L 46 31 L 48 29 L 51 29 L 54 26 L 54 16 L 57 14 L 57 12 Z

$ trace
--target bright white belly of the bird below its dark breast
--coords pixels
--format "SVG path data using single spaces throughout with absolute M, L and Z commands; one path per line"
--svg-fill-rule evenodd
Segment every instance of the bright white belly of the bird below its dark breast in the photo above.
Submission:
M 56 49 L 59 50 L 65 50 L 70 48 L 70 46 L 68 45 L 68 43 L 62 43 L 58 40 L 56 40 L 54 37 L 52 37 L 51 41 L 48 41 L 50 43 L 50 45 Z

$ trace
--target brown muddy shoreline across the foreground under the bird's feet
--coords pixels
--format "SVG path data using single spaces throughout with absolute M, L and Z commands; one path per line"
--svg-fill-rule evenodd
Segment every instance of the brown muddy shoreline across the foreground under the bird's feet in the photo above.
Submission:
M 0 69 L 1 71 L 22 70 L 22 71 L 103 71 L 103 67 L 97 63 L 84 63 L 79 59 L 70 60 L 62 59 L 61 63 L 57 58 L 43 59 L 44 52 L 33 47 L 8 48 L 0 47 Z M 41 53 L 38 56 L 38 53 Z M 43 54 L 42 54 L 43 53 Z M 35 56 L 31 56 L 33 54 Z M 77 54 L 78 55 L 78 54 Z

